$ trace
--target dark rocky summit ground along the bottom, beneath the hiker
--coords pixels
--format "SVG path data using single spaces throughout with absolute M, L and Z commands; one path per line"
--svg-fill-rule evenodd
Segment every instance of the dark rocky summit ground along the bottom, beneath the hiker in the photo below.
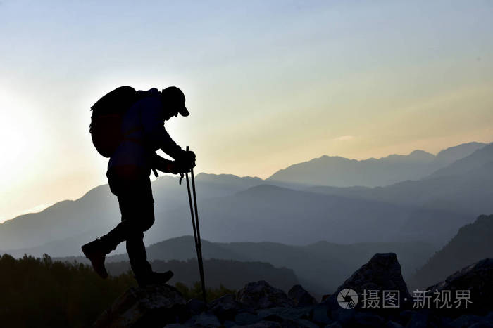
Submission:
M 129 289 L 94 327 L 493 327 L 492 275 L 485 259 L 409 293 L 396 254 L 379 253 L 322 303 L 301 285 L 285 294 L 263 280 L 207 304 L 151 285 Z

